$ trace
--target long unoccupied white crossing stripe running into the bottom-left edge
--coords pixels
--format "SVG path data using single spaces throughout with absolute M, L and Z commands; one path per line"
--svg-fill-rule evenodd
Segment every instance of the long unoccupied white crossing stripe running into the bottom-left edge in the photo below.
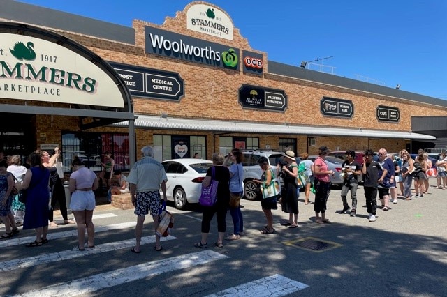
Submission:
M 212 250 L 182 254 L 181 256 L 147 262 L 128 268 L 117 269 L 107 273 L 91 275 L 79 280 L 55 284 L 14 296 L 81 296 L 83 294 L 89 294 L 100 289 L 117 286 L 126 282 L 134 282 L 135 280 L 141 280 L 145 277 L 198 266 L 200 264 L 206 264 L 211 261 L 225 258 L 228 257 L 223 254 L 219 254 L 218 252 L 213 252 Z M 138 273 L 135 273 L 135 271 L 138 271 Z

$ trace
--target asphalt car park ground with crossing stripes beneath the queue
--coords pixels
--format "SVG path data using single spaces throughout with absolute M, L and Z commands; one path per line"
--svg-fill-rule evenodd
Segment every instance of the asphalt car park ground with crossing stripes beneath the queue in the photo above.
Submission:
M 338 213 L 340 190 L 332 189 L 326 215 L 332 224 L 316 224 L 313 205 L 305 205 L 301 193 L 300 227 L 281 226 L 288 214 L 277 210 L 277 234 L 260 234 L 265 226 L 261 203 L 243 200 L 245 236 L 214 247 L 214 219 L 207 249 L 193 247 L 200 240 L 200 208 L 177 211 L 170 204 L 175 226 L 163 250 L 154 250 L 148 217 L 140 254 L 131 252 L 133 210 L 98 206 L 94 249 L 76 250 L 75 225 L 50 229 L 50 242 L 38 248 L 24 247 L 34 241 L 31 230 L 1 240 L 0 295 L 447 296 L 447 190 L 429 192 L 400 199 L 368 222 L 362 187 L 356 218 Z M 228 213 L 228 234 L 232 229 Z M 297 246 L 302 242 L 308 248 Z

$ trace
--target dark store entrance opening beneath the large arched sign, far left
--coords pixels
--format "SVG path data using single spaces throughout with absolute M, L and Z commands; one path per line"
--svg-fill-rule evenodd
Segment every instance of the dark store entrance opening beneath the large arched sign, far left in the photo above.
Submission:
M 34 122 L 33 114 L 0 113 L 0 150 L 5 155 L 20 155 L 23 164 L 36 149 L 35 135 L 31 133 Z

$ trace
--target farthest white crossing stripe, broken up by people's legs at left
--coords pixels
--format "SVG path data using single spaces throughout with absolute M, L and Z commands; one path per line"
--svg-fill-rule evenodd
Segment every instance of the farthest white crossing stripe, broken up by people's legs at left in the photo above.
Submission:
M 104 232 L 104 231 L 110 231 L 110 230 L 117 230 L 117 229 L 129 229 L 136 226 L 136 222 L 125 222 L 121 224 L 110 224 L 106 226 L 95 226 L 95 234 L 98 232 Z M 49 241 L 52 241 L 54 239 L 59 238 L 66 238 L 71 236 L 78 236 L 78 230 L 73 229 L 70 231 L 61 231 L 61 232 L 52 232 L 47 235 L 47 239 Z M 20 237 L 20 238 L 10 238 L 10 239 L 3 239 L 0 241 L 0 248 L 10 247 L 13 245 L 24 245 L 26 243 L 32 243 L 36 240 L 36 236 L 26 236 L 26 237 Z

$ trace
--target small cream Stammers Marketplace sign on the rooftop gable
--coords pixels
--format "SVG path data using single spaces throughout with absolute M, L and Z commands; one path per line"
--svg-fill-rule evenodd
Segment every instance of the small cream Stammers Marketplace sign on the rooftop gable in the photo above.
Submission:
M 186 22 L 189 30 L 233 40 L 233 22 L 219 8 L 205 4 L 193 5 L 186 12 Z

